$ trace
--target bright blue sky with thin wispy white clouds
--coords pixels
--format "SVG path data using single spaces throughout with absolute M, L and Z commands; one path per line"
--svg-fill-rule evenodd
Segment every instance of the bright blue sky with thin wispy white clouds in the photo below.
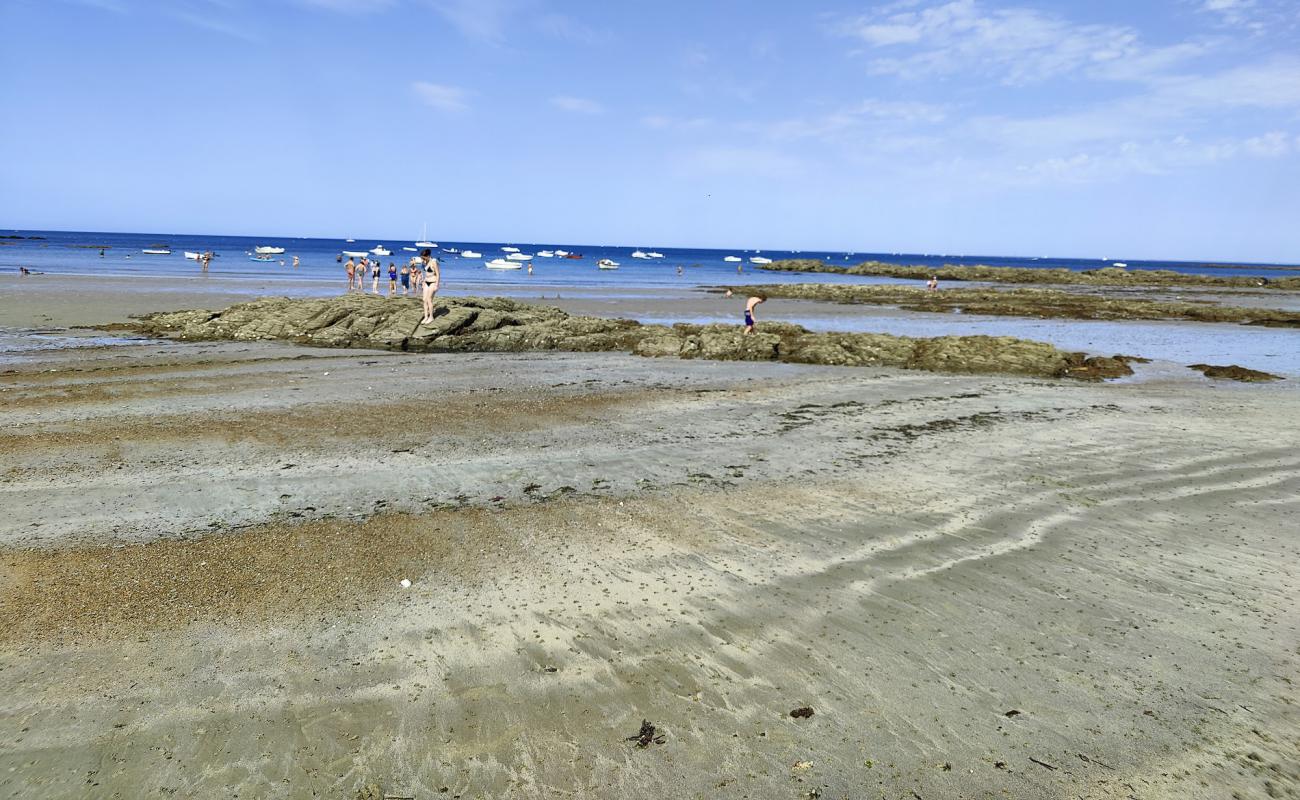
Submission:
M 0 0 L 0 226 L 1300 261 L 1297 0 Z

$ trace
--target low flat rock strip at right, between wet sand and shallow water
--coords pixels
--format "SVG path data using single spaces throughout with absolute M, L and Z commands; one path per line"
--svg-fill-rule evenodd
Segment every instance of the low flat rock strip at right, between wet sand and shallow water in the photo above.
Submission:
M 772 284 L 733 291 L 803 300 L 897 306 L 909 311 L 987 313 L 1074 320 L 1193 320 L 1300 328 L 1300 312 L 1213 302 L 1149 300 L 1056 289 L 941 289 L 880 284 Z

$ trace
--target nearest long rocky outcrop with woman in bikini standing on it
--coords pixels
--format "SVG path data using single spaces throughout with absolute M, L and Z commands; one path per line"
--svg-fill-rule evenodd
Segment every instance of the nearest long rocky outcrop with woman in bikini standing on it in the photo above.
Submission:
M 1118 369 L 1112 359 L 1087 358 L 1011 337 L 811 333 L 784 323 L 763 323 L 755 333 L 745 336 L 738 325 L 642 325 L 630 320 L 571 316 L 559 308 L 503 298 L 441 299 L 432 323 L 422 324 L 421 317 L 420 306 L 413 300 L 344 295 L 263 298 L 217 312 L 151 313 L 136 317 L 131 327 L 152 336 L 185 340 L 278 340 L 324 347 L 412 351 L 599 350 L 644 356 L 1082 380 L 1101 380 Z

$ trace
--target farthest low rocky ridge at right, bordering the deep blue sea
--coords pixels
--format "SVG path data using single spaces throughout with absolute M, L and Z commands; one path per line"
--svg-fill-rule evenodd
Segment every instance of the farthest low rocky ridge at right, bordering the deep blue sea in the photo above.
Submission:
M 1170 269 L 1036 269 L 1024 267 L 909 267 L 863 261 L 852 267 L 835 267 L 814 259 L 786 259 L 763 264 L 759 269 L 775 272 L 831 272 L 836 274 L 864 274 L 890 278 L 928 281 L 937 276 L 942 281 L 985 281 L 991 284 L 1066 284 L 1072 286 L 1235 286 L 1243 289 L 1300 289 L 1300 277 L 1262 278 L 1247 274 L 1216 276 L 1186 274 Z

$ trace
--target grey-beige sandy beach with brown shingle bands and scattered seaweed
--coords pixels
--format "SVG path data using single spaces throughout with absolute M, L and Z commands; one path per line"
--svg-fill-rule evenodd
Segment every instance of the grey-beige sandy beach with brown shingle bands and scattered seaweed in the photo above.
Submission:
M 1295 382 L 26 354 L 0 796 L 1300 796 Z

